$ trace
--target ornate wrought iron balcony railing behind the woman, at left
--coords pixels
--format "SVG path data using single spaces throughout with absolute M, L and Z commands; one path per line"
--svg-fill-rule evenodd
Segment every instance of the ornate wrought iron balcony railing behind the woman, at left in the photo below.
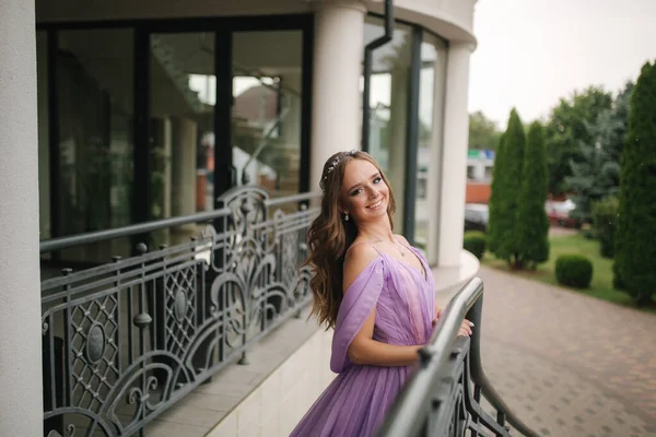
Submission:
M 187 243 L 140 244 L 134 257 L 43 281 L 44 435 L 141 433 L 298 315 L 312 299 L 298 267 L 315 197 L 241 187 L 216 211 L 42 243 L 48 252 L 200 224 Z

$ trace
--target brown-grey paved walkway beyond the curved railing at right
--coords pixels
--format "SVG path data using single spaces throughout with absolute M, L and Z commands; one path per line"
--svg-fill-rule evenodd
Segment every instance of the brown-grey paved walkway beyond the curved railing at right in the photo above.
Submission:
M 543 436 L 656 436 L 656 316 L 481 268 L 482 358 Z

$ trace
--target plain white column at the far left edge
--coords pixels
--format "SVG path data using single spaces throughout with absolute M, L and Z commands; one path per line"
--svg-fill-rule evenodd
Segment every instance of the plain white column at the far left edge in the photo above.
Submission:
M 34 1 L 0 0 L 0 429 L 43 435 Z

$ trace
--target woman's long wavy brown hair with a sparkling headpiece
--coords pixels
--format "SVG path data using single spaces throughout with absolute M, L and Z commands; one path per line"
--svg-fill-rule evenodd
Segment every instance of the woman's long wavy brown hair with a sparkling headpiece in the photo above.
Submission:
M 316 317 L 319 324 L 335 328 L 339 306 L 342 302 L 343 263 L 347 250 L 358 237 L 358 227 L 353 220 L 345 221 L 341 213 L 342 180 L 347 165 L 353 160 L 365 160 L 380 173 L 382 179 L 389 188 L 387 216 L 394 228 L 391 218 L 396 203 L 389 181 L 376 161 L 365 152 L 339 152 L 330 156 L 324 165 L 320 187 L 324 191 L 321 212 L 312 223 L 308 231 L 309 257 L 304 265 L 313 271 L 311 287 L 314 303 L 311 317 Z

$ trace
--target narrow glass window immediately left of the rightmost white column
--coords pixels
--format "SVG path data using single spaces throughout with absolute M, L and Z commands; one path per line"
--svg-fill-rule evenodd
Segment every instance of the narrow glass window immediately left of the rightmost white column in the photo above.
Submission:
M 442 118 L 446 46 L 424 32 L 419 76 L 419 132 L 414 243 L 429 261 L 437 261 L 438 200 L 442 165 Z M 427 169 L 431 169 L 427 172 Z M 422 172 L 423 170 L 423 172 Z

